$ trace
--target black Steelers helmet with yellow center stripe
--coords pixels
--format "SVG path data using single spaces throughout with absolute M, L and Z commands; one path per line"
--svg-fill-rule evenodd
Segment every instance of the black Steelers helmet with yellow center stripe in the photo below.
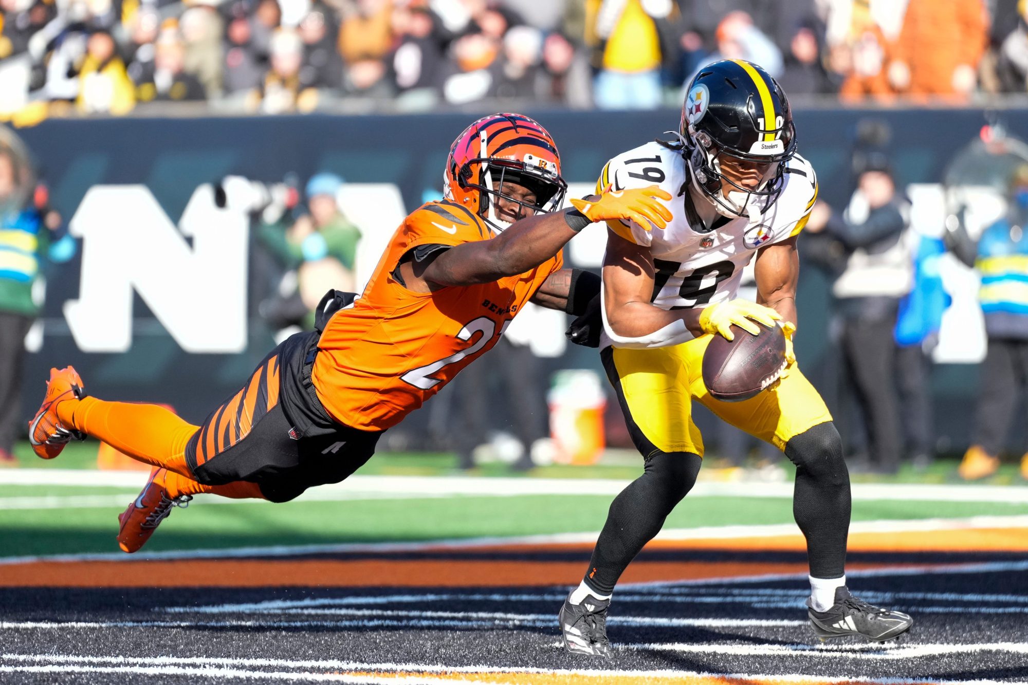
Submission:
M 770 206 L 783 186 L 782 168 L 796 154 L 796 127 L 781 86 L 764 69 L 743 60 L 709 64 L 689 84 L 680 129 L 691 182 L 718 212 L 747 216 L 754 196 Z M 724 169 L 760 175 L 743 187 Z

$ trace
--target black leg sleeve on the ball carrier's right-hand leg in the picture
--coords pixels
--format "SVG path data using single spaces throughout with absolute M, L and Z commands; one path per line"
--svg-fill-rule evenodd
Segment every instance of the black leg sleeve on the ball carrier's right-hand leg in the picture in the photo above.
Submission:
M 849 471 L 832 422 L 818 424 L 785 444 L 796 464 L 793 516 L 807 538 L 810 575 L 838 578 L 846 572 L 849 535 Z

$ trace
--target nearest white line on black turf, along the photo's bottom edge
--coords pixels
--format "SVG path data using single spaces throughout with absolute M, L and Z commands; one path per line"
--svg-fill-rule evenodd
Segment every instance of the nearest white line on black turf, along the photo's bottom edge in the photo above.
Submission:
M 1003 643 L 998 643 L 1003 644 Z M 951 645 L 947 645 L 951 646 Z M 442 664 L 420 664 L 420 663 L 365 663 L 358 661 L 342 661 L 335 659 L 323 660 L 290 660 L 290 659 L 227 659 L 227 658 L 205 658 L 205 657 L 125 657 L 125 656 L 78 656 L 67 654 L 0 654 L 0 660 L 13 662 L 17 665 L 0 665 L 0 673 L 124 673 L 124 674 L 146 674 L 146 675 L 193 675 L 208 678 L 264 678 L 268 680 L 328 680 L 336 682 L 383 682 L 383 683 L 444 683 L 451 685 L 458 683 L 476 683 L 481 681 L 460 680 L 450 678 L 433 678 L 431 674 L 510 674 L 516 678 L 521 674 L 557 676 L 557 677 L 594 677 L 594 678 L 658 678 L 667 679 L 672 682 L 683 682 L 691 679 L 731 679 L 752 683 L 764 682 L 785 682 L 785 683 L 808 683 L 808 682 L 835 682 L 835 683 L 888 683 L 889 685 L 901 685 L 903 683 L 934 683 L 938 685 L 992 685 L 997 681 L 974 680 L 974 681 L 952 681 L 933 680 L 926 678 L 905 679 L 905 678 L 833 678 L 822 676 L 801 676 L 797 674 L 782 675 L 755 675 L 755 674 L 720 674 L 720 673 L 699 673 L 689 671 L 641 671 L 641 670 L 602 670 L 602 669 L 539 669 L 539 668 L 510 668 L 510 666 L 489 666 L 489 665 L 462 665 L 448 666 Z M 36 665 L 41 664 L 41 665 Z M 107 665 L 110 664 L 110 665 Z M 27 671 L 28 669 L 41 669 L 38 671 Z M 307 670 L 306 672 L 268 672 L 258 671 L 258 669 L 294 669 Z M 317 670 L 311 673 L 310 670 Z M 324 673 L 324 671 L 348 671 L 356 674 L 374 673 L 375 676 L 352 676 L 340 673 Z M 319 673 L 320 672 L 320 673 Z M 380 680 L 377 674 L 380 674 Z M 424 675 L 412 675 L 424 674 Z M 392 678 L 392 680 L 391 680 Z M 346 679 L 346 680 L 343 680 Z M 495 685 L 495 681 L 490 681 Z M 512 683 L 517 682 L 512 680 Z

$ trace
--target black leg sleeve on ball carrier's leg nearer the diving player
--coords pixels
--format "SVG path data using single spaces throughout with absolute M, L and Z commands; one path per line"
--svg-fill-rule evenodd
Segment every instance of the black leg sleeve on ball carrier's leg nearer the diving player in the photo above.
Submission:
M 685 452 L 659 453 L 646 469 L 621 491 L 592 550 L 585 582 L 600 594 L 610 594 L 618 578 L 647 542 L 660 532 L 667 514 L 696 482 L 702 460 Z

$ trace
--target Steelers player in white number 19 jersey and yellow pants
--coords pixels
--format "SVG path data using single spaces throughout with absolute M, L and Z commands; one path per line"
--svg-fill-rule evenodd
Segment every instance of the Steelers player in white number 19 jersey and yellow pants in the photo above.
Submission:
M 814 633 L 894 638 L 910 629 L 910 616 L 871 606 L 846 587 L 849 474 L 832 416 L 793 354 L 796 243 L 817 200 L 817 178 L 797 154 L 785 94 L 755 64 L 715 62 L 690 84 L 677 138 L 619 154 L 600 174 L 601 189 L 659 185 L 673 196 L 672 219 L 663 229 L 608 222 L 600 356 L 645 469 L 615 498 L 585 577 L 560 610 L 564 645 L 609 654 L 615 583 L 700 468 L 693 399 L 796 464 L 793 510 L 807 539 Z M 579 205 L 588 217 L 589 206 Z M 754 258 L 757 303 L 736 298 Z M 706 345 L 714 334 L 733 337 L 731 324 L 757 333 L 755 321 L 784 329 L 784 370 L 751 399 L 714 400 L 701 375 Z

